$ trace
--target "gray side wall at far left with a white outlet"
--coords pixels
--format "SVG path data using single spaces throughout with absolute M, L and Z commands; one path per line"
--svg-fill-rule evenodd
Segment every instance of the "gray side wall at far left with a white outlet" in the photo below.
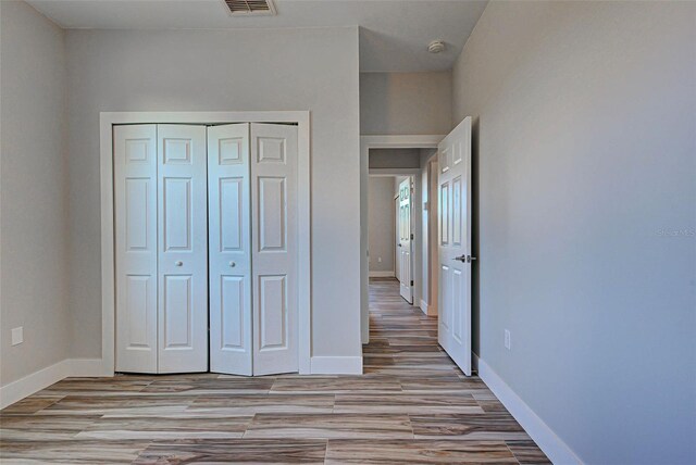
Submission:
M 2 2 L 0 385 L 67 356 L 65 36 L 24 2 Z M 11 345 L 12 328 L 24 343 Z

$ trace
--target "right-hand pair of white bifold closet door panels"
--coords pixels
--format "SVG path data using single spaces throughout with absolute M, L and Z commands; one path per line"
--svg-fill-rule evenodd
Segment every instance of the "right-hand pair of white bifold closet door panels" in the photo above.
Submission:
M 211 370 L 297 372 L 297 126 L 208 133 Z

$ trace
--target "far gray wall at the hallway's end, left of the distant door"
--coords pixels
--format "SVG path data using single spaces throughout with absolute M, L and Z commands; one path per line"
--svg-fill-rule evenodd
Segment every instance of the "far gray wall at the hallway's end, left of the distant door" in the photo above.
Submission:
M 394 273 L 396 248 L 394 176 L 370 176 L 368 205 L 370 210 L 370 271 Z

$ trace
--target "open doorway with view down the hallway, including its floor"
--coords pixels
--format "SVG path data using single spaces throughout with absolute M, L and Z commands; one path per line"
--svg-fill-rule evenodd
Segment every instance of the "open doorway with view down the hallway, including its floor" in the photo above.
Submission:
M 364 373 L 451 374 L 437 343 L 437 149 L 370 149 L 368 156 Z

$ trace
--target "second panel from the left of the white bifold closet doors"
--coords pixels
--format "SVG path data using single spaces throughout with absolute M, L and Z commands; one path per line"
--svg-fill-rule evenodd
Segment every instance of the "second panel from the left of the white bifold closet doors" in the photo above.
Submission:
M 158 125 L 159 373 L 208 370 L 206 126 Z

